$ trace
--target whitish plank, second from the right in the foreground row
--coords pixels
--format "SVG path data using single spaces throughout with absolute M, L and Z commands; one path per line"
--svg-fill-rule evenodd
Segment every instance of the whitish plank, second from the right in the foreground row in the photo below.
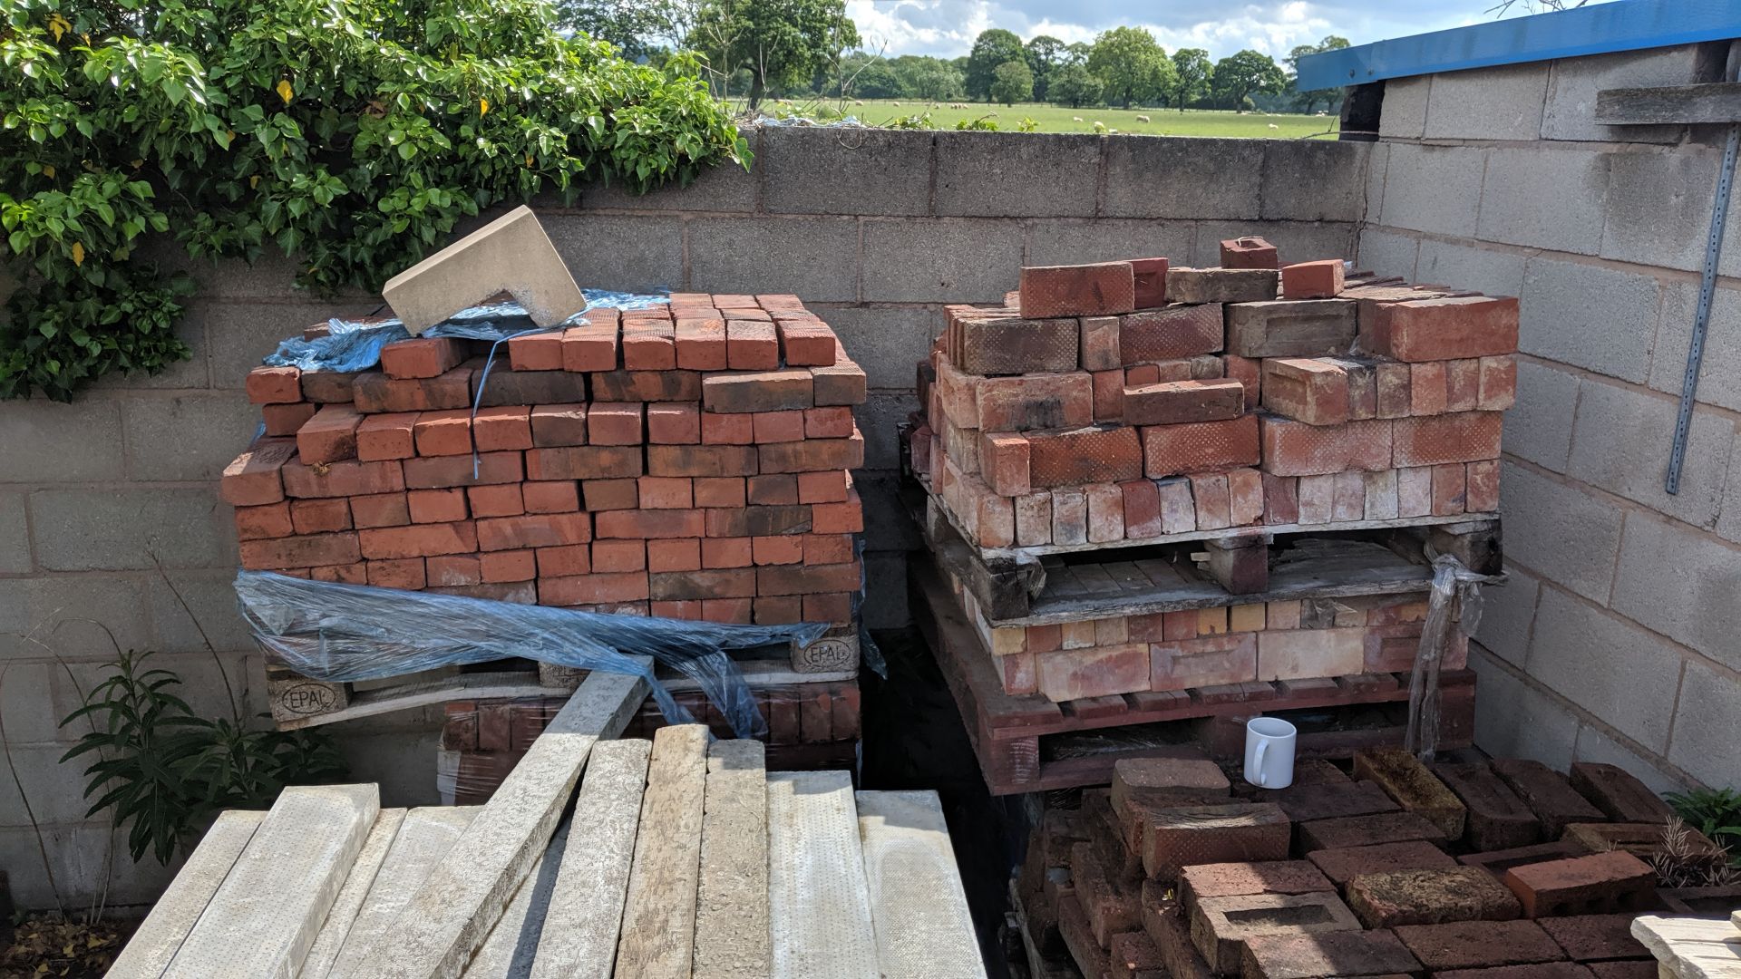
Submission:
M 768 916 L 773 979 L 877 979 L 846 772 L 768 773 Z

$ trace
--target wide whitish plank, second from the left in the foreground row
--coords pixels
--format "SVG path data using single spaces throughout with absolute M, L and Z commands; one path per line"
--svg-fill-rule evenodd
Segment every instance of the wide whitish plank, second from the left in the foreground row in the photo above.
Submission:
M 380 810 L 374 786 L 279 793 L 164 979 L 292 979 Z

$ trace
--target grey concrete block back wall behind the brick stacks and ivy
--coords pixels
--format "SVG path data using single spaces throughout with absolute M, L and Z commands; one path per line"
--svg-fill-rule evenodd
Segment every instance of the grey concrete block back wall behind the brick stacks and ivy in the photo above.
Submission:
M 1022 263 L 1213 263 L 1238 233 L 1297 260 L 1351 254 L 1368 155 L 1353 143 L 837 129 L 768 129 L 752 148 L 750 172 L 716 169 L 649 197 L 599 188 L 575 207 L 543 202 L 540 218 L 581 286 L 796 293 L 834 324 L 872 388 L 860 486 L 867 617 L 881 627 L 905 622 L 904 552 L 919 545 L 893 500 L 895 425 L 918 408 L 914 364 L 944 303 L 1001 300 Z M 151 859 L 104 862 L 111 833 L 84 819 L 82 766 L 56 761 L 77 732 L 56 721 L 111 658 L 108 632 L 158 650 L 202 712 L 228 714 L 225 678 L 247 714 L 265 711 L 230 591 L 230 509 L 214 491 L 256 425 L 242 378 L 303 326 L 380 305 L 298 293 L 282 258 L 188 268 L 200 280 L 181 326 L 193 361 L 73 404 L 0 402 L 0 735 L 49 866 L 0 777 L 0 868 L 24 908 L 52 902 L 50 873 L 82 899 L 108 868 L 111 904 L 148 901 L 167 880 Z M 435 801 L 434 712 L 329 730 L 359 779 L 385 782 L 383 803 Z

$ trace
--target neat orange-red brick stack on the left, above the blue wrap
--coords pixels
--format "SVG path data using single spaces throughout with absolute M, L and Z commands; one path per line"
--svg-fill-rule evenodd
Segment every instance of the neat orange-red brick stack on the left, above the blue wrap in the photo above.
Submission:
M 355 375 L 259 368 L 242 566 L 735 624 L 853 618 L 865 375 L 796 296 L 677 293 Z M 474 411 L 474 402 L 477 404 Z

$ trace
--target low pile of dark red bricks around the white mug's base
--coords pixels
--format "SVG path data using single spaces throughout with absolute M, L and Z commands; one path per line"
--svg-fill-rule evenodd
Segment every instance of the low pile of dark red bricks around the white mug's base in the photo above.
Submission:
M 1029 974 L 1656 977 L 1630 930 L 1666 901 L 1668 808 L 1623 770 L 1382 749 L 1353 775 L 1307 761 L 1260 791 L 1201 756 L 1119 761 L 1029 834 Z

